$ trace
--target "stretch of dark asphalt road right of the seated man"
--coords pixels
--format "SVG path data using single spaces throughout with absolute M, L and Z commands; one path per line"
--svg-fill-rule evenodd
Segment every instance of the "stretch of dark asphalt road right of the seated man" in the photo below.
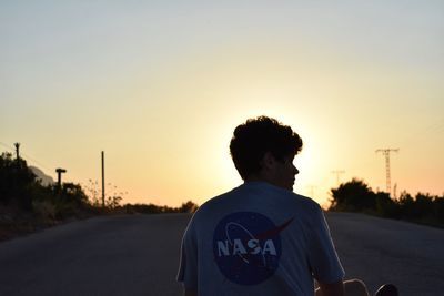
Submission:
M 329 213 L 346 277 L 370 292 L 393 283 L 401 296 L 444 295 L 444 229 L 352 213 Z

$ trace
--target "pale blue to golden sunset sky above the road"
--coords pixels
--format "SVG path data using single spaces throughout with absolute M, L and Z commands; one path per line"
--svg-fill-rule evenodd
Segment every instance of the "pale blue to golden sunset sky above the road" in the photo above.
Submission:
M 269 115 L 304 141 L 294 191 L 444 193 L 444 2 L 1 1 L 0 151 L 123 203 L 240 184 L 229 143 Z M 341 174 L 334 171 L 343 171 Z

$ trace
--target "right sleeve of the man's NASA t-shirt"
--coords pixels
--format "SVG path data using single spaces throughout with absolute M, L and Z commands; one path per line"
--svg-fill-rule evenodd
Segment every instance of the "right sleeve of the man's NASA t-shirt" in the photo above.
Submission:
M 309 261 L 313 277 L 324 284 L 341 280 L 345 273 L 330 235 L 329 225 L 321 208 L 317 208 L 311 229 Z

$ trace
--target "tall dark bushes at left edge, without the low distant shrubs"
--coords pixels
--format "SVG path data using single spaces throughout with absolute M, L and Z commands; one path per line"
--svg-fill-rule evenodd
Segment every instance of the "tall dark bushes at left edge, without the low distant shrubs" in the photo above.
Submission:
M 0 155 L 0 239 L 97 212 L 80 185 L 44 186 L 24 160 Z

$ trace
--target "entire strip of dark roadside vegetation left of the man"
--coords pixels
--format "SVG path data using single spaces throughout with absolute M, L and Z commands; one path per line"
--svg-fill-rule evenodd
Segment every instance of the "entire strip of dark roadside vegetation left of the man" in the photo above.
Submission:
M 92 188 L 92 190 L 91 190 Z M 115 188 L 115 186 L 114 186 Z M 114 213 L 192 213 L 198 205 L 189 201 L 180 207 L 154 204 L 120 205 L 123 193 L 111 191 L 104 206 L 95 186 L 62 183 L 42 185 L 22 159 L 0 155 L 0 241 L 72 218 Z

